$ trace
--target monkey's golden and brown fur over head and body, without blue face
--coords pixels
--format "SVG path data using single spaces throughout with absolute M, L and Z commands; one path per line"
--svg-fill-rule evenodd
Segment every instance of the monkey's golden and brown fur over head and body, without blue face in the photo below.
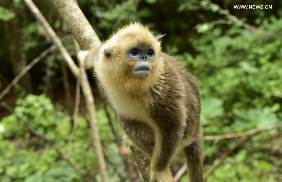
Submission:
M 172 181 L 170 162 L 184 148 L 190 181 L 201 182 L 199 92 L 183 66 L 161 52 L 161 37 L 139 23 L 130 23 L 103 44 L 97 61 L 91 51 L 82 57 L 94 61 L 102 95 L 128 139 L 151 159 L 151 181 Z M 154 49 L 146 78 L 133 74 L 138 61 L 130 60 L 127 53 L 134 46 Z

